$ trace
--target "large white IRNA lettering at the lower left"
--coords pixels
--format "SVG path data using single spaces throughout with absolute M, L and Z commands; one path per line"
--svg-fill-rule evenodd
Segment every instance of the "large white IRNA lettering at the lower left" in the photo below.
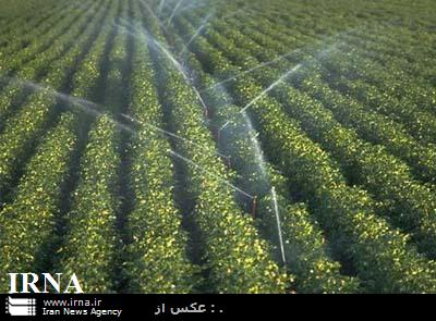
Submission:
M 83 293 L 78 279 L 73 273 L 65 277 L 62 273 L 8 273 L 10 294 L 14 293 Z

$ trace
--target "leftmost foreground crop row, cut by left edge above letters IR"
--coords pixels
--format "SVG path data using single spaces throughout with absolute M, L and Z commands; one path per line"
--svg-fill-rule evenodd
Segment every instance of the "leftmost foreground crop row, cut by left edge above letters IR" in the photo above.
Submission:
M 40 271 L 59 211 L 59 196 L 76 145 L 72 114 L 61 116 L 26 164 L 15 197 L 0 211 L 0 291 L 11 271 Z

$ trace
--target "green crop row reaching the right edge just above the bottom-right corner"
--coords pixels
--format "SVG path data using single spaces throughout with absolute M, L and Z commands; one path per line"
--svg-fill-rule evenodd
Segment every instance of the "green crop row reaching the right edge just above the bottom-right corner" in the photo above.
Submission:
M 211 34 L 213 32 L 210 32 Z M 233 34 L 235 34 L 233 32 Z M 210 36 L 213 38 L 214 36 Z M 226 48 L 226 54 L 250 58 L 244 50 L 231 48 L 226 40 L 215 35 L 218 46 Z M 239 39 L 239 38 L 238 38 Z M 232 51 L 232 53 L 228 53 Z M 257 65 L 255 62 L 254 65 Z M 249 65 L 250 67 L 251 65 Z M 277 81 L 289 66 L 272 69 L 266 66 L 262 72 L 254 72 L 255 78 L 268 87 Z M 344 168 L 352 182 L 364 185 L 377 199 L 382 200 L 393 221 L 416 237 L 423 251 L 435 256 L 436 218 L 434 209 L 436 199 L 429 187 L 421 185 L 410 174 L 409 168 L 400 160 L 386 153 L 383 147 L 372 146 L 362 141 L 355 132 L 341 126 L 322 103 L 286 84 L 279 84 L 274 89 L 276 97 L 287 111 L 308 133 L 310 137 L 319 141 L 331 152 Z M 396 217 L 396 213 L 401 215 Z

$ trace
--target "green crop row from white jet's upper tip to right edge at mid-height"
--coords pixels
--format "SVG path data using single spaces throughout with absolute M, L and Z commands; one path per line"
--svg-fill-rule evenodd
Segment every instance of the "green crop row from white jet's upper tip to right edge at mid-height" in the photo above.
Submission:
M 255 35 L 256 39 L 262 39 L 261 45 L 268 49 L 277 48 L 277 45 L 269 40 L 269 37 L 262 37 L 259 33 L 250 29 L 247 36 Z M 238 37 L 239 42 L 242 40 Z M 240 46 L 242 47 L 242 46 Z M 254 46 L 252 46 L 254 47 Z M 247 48 L 252 48 L 247 47 Z M 267 57 L 270 50 L 256 48 L 259 55 Z M 283 53 L 281 48 L 278 47 L 280 53 Z M 295 54 L 296 55 L 296 54 Z M 269 55 L 269 59 L 275 59 L 278 54 Z M 414 174 L 425 182 L 434 182 L 436 177 L 436 151 L 433 145 L 420 145 L 413 137 L 411 137 L 405 128 L 385 115 L 378 114 L 365 108 L 358 101 L 341 95 L 335 89 L 331 89 L 324 83 L 319 75 L 324 74 L 323 66 L 315 59 L 306 57 L 293 58 L 289 55 L 288 59 L 291 63 L 278 61 L 274 66 L 279 66 L 283 71 L 292 67 L 295 63 L 303 62 L 304 70 L 307 71 L 291 76 L 291 79 L 299 88 L 308 92 L 313 98 L 320 100 L 327 108 L 331 109 L 338 121 L 350 128 L 355 128 L 361 137 L 375 144 L 384 145 L 389 152 L 396 157 L 403 159 L 414 170 Z M 262 73 L 262 70 L 259 71 Z

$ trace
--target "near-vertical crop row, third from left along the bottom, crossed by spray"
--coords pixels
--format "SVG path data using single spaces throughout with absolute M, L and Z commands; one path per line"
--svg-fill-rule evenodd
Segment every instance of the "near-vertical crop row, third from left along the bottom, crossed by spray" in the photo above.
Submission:
M 130 113 L 140 123 L 160 127 L 162 108 L 145 38 L 134 44 L 132 65 Z M 166 137 L 147 125 L 140 125 L 129 146 L 134 206 L 126 223 L 131 244 L 126 245 L 125 270 L 132 292 L 187 293 L 196 283 L 196 268 L 186 257 L 187 236 L 173 201 L 174 173 L 169 149 Z

